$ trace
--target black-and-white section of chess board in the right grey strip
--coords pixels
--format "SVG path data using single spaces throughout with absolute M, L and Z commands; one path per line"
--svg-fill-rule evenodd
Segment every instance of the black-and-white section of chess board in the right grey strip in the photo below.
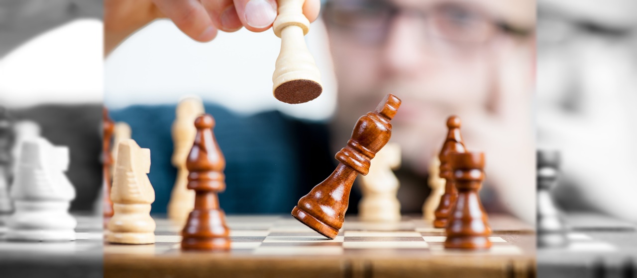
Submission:
M 568 213 L 568 246 L 538 249 L 540 277 L 637 277 L 637 227 L 598 213 Z

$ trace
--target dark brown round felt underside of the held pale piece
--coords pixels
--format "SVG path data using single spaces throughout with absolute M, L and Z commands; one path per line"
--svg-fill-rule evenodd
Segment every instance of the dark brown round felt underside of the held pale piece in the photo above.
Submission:
M 292 80 L 276 87 L 274 95 L 281 102 L 298 104 L 318 98 L 322 92 L 323 87 L 314 81 Z

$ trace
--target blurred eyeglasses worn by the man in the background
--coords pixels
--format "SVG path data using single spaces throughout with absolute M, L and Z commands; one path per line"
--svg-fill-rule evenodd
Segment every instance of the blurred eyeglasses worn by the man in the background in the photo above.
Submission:
M 532 29 L 513 27 L 496 20 L 480 8 L 465 2 L 434 4 L 426 11 L 399 8 L 383 0 L 347 3 L 329 2 L 324 7 L 324 18 L 331 27 L 348 33 L 364 44 L 380 44 L 389 35 L 394 18 L 408 15 L 422 19 L 424 36 L 434 36 L 455 44 L 475 45 L 489 41 L 498 32 L 513 36 L 529 36 Z

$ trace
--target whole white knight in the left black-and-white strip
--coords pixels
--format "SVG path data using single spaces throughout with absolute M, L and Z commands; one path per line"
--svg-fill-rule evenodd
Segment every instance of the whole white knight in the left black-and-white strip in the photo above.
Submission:
M 15 241 L 74 241 L 77 222 L 69 214 L 75 189 L 64 172 L 68 147 L 44 138 L 22 142 L 11 185 L 15 211 L 7 221 L 6 238 Z

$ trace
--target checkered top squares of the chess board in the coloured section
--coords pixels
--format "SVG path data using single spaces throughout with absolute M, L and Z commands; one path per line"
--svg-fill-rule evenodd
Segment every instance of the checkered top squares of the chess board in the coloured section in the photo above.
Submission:
M 182 237 L 171 223 L 155 218 L 156 243 L 141 247 L 108 244 L 106 253 L 179 253 Z M 336 239 L 327 239 L 290 216 L 229 216 L 231 253 L 254 256 L 334 256 L 378 254 L 419 255 L 522 255 L 522 250 L 502 237 L 489 237 L 489 251 L 448 250 L 444 230 L 421 218 L 403 218 L 395 223 L 346 220 Z M 152 248 L 154 246 L 154 249 Z

